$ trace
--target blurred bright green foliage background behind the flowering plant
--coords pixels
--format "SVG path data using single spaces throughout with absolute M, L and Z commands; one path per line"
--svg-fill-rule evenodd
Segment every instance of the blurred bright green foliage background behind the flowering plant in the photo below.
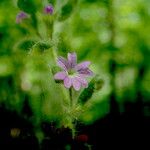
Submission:
M 122 113 L 127 101 L 150 102 L 149 0 L 79 0 L 72 12 L 66 9 L 65 19 L 54 22 L 53 41 L 43 23 L 47 1 L 41 2 L 33 25 L 33 18 L 16 24 L 16 0 L 0 1 L 0 105 L 35 125 L 63 116 L 63 94 L 51 73 L 55 45 L 58 55 L 75 51 L 79 62 L 91 61 L 104 80 L 80 116 L 84 123 L 108 114 L 111 101 Z M 58 1 L 54 11 L 59 13 L 64 2 Z M 143 111 L 150 116 L 150 108 Z

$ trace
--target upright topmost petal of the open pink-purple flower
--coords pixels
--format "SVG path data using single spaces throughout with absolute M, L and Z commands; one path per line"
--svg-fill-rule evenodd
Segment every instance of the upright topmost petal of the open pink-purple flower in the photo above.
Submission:
M 77 55 L 76 53 L 68 53 L 68 62 L 70 68 L 74 68 L 77 64 Z

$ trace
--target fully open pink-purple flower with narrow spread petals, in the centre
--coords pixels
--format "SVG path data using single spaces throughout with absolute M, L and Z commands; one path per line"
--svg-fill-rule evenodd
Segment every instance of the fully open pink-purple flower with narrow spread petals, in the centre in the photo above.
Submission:
M 54 75 L 55 80 L 63 80 L 66 88 L 73 86 L 76 91 L 79 91 L 81 87 L 88 87 L 86 77 L 93 75 L 93 72 L 88 68 L 89 61 L 77 64 L 76 53 L 68 53 L 68 60 L 59 57 L 57 64 L 63 71 Z

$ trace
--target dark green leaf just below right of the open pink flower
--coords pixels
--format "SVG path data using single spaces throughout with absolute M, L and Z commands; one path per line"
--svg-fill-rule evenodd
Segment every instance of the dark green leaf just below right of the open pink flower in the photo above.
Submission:
M 88 88 L 84 89 L 78 98 L 78 102 L 84 105 L 93 95 L 94 92 L 100 90 L 103 86 L 103 80 L 96 75 L 89 83 Z

